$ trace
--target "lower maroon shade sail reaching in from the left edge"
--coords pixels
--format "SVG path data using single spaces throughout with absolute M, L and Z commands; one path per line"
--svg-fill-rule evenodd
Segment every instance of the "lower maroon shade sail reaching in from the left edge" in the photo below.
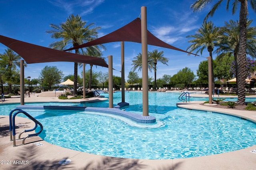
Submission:
M 91 57 L 50 49 L 47 47 L 26 43 L 9 37 L 4 37 L 2 35 L 0 35 L 0 43 L 15 51 L 26 61 L 27 64 L 64 61 L 74 63 L 86 63 L 108 68 L 108 64 L 106 63 L 106 61 L 98 57 Z

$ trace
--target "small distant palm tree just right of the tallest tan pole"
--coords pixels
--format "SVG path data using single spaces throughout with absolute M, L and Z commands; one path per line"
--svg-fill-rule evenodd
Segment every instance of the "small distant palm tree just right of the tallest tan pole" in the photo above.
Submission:
M 153 50 L 152 52 L 149 52 L 149 58 L 151 65 L 153 65 L 154 73 L 155 73 L 155 84 L 154 84 L 154 90 L 156 90 L 156 64 L 158 62 L 162 64 L 166 64 L 168 66 L 169 59 L 164 57 L 164 51 L 158 52 L 157 49 Z

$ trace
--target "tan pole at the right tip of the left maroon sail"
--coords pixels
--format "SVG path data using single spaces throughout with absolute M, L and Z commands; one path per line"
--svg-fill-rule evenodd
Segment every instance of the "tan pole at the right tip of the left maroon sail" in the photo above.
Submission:
M 108 56 L 108 107 L 113 108 L 113 56 Z

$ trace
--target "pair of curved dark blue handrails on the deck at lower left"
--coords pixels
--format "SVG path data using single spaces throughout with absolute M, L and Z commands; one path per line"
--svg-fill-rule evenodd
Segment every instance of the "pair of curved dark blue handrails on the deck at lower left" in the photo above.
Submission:
M 16 111 L 14 113 L 14 111 Z M 12 113 L 14 113 L 14 115 L 12 116 Z M 37 126 L 39 125 L 40 126 L 40 131 L 38 133 L 33 133 L 33 134 L 29 134 L 27 135 L 26 137 L 23 138 L 22 140 L 22 145 L 25 145 L 25 140 L 29 137 L 35 137 L 35 136 L 38 136 L 42 130 L 43 130 L 43 126 L 42 124 L 36 120 L 34 117 L 32 117 L 30 114 L 28 114 L 26 111 L 23 111 L 22 109 L 13 109 L 11 112 L 10 112 L 10 115 L 9 115 L 9 122 L 10 122 L 10 141 L 13 141 L 13 147 L 16 147 L 16 127 L 15 127 L 15 117 L 18 113 L 23 113 L 24 115 L 26 115 L 28 118 L 30 118 L 32 121 L 34 121 L 35 123 L 35 127 L 33 129 L 29 129 L 29 130 L 24 130 L 20 133 L 19 137 L 18 137 L 18 140 L 20 140 L 20 137 L 22 135 L 22 133 L 25 133 L 25 132 L 30 132 L 30 131 L 34 131 Z

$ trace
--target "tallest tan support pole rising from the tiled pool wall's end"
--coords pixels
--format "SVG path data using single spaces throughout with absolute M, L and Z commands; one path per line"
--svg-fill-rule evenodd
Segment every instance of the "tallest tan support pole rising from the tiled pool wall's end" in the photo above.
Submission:
M 148 116 L 148 30 L 147 9 L 141 7 L 141 46 L 142 46 L 142 113 Z

